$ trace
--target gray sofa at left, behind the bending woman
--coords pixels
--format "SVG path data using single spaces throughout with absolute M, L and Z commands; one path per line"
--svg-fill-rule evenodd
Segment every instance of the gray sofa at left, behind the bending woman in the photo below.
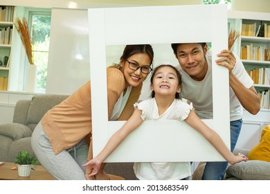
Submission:
M 0 161 L 14 162 L 20 150 L 32 152 L 30 139 L 42 116 L 66 99 L 66 95 L 37 95 L 32 100 L 19 100 L 15 105 L 12 123 L 0 125 Z M 106 173 L 125 179 L 136 179 L 133 163 L 108 163 Z

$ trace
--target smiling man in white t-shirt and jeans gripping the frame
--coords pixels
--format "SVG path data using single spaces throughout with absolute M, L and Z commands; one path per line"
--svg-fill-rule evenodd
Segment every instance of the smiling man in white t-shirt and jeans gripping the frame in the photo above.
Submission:
M 206 43 L 172 44 L 174 55 L 181 66 L 181 95 L 192 102 L 200 118 L 213 118 L 212 54 Z M 222 65 L 229 72 L 231 151 L 234 150 L 242 127 L 243 107 L 251 114 L 260 110 L 260 98 L 253 80 L 244 69 L 240 58 L 232 51 L 223 50 L 213 65 Z M 223 179 L 228 162 L 207 162 L 202 179 Z

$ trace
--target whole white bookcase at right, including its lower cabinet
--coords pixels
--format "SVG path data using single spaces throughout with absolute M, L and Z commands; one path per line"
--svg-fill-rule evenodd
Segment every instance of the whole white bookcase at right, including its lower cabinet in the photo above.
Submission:
M 267 51 L 270 52 L 269 28 L 270 13 L 228 12 L 228 31 L 234 29 L 241 34 L 232 49 L 242 59 L 261 98 L 261 109 L 258 114 L 250 114 L 244 109 L 242 130 L 236 145 L 238 148 L 253 148 L 260 142 L 263 127 L 270 124 L 270 59 L 267 58 L 270 57 L 270 53 L 267 55 Z M 249 55 L 247 48 L 249 48 Z

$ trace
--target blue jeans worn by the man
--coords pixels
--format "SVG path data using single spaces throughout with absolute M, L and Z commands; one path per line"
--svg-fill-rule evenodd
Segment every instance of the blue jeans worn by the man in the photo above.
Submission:
M 235 149 L 238 136 L 242 127 L 242 119 L 237 121 L 231 121 L 231 152 Z M 206 167 L 204 168 L 204 174 L 201 179 L 203 180 L 222 180 L 224 179 L 226 167 L 228 165 L 227 161 L 208 161 L 206 162 Z

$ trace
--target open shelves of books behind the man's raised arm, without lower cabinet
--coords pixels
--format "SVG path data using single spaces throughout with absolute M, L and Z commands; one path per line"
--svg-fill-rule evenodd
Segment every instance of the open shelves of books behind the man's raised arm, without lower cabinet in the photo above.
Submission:
M 270 112 L 270 14 L 244 12 L 228 19 L 229 28 L 241 36 L 233 51 L 242 59 L 246 71 L 254 81 L 261 100 L 261 109 Z M 230 16 L 229 16 L 230 17 Z

